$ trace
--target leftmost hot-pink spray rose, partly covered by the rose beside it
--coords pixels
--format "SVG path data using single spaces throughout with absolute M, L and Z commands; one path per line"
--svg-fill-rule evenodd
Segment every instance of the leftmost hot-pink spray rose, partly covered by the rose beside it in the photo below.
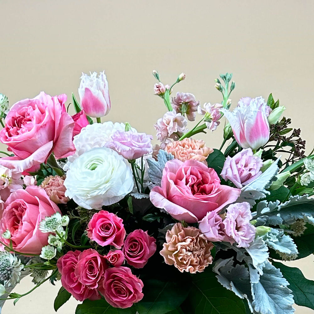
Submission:
M 84 301 L 85 299 L 98 300 L 100 295 L 97 289 L 82 284 L 75 276 L 75 268 L 81 253 L 80 251 L 69 251 L 58 259 L 57 267 L 59 273 L 61 273 L 62 286 L 78 301 Z

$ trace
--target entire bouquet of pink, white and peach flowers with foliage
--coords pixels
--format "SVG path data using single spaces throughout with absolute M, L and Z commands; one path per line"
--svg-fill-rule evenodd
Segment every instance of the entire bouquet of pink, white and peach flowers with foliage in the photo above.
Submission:
M 76 314 L 314 309 L 314 282 L 281 262 L 314 252 L 314 155 L 300 129 L 272 94 L 230 110 L 232 74 L 215 80 L 221 104 L 203 106 L 170 96 L 185 74 L 171 86 L 153 75 L 166 106 L 154 147 L 129 123 L 101 123 L 104 72 L 83 74 L 73 116 L 66 95 L 10 110 L 1 95 L 1 306 L 61 280 L 54 309 L 72 295 Z M 209 148 L 198 135 L 217 127 Z M 19 294 L 28 275 L 34 288 Z

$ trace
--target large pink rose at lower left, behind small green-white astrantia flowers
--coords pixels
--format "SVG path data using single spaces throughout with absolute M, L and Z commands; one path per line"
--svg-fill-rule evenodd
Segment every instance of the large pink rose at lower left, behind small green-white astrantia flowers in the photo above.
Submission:
M 60 210 L 48 197 L 44 189 L 37 186 L 26 187 L 13 192 L 4 204 L 1 213 L 0 235 L 6 230 L 11 233 L 11 239 L 1 241 L 21 253 L 40 254 L 42 246 L 48 244 L 49 233 L 39 230 L 39 223 L 45 217 Z

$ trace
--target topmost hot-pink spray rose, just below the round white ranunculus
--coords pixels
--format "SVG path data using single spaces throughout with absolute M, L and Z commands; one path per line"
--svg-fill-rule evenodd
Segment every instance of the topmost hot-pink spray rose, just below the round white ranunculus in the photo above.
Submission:
M 87 236 L 101 246 L 121 249 L 125 235 L 123 220 L 106 210 L 94 214 L 88 223 Z

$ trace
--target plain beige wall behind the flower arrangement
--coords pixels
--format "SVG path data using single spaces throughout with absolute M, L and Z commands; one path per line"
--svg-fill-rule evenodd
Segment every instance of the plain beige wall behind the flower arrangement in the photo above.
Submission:
M 106 119 L 128 121 L 155 135 L 165 112 L 153 95 L 153 69 L 165 83 L 185 72 L 176 91 L 220 102 L 219 73 L 232 72 L 233 105 L 242 96 L 270 92 L 302 127 L 307 151 L 314 145 L 313 9 L 309 0 L 285 1 L 15 1 L 0 0 L 0 92 L 13 104 L 41 90 L 73 91 L 81 72 L 106 70 L 112 109 Z M 221 129 L 203 136 L 219 147 Z M 3 147 L 1 147 L 3 148 Z M 314 279 L 313 257 L 292 262 Z M 33 287 L 23 279 L 17 292 Z M 3 314 L 50 314 L 56 287 L 44 284 Z M 58 312 L 74 314 L 72 299 Z M 297 314 L 314 313 L 297 308 Z

